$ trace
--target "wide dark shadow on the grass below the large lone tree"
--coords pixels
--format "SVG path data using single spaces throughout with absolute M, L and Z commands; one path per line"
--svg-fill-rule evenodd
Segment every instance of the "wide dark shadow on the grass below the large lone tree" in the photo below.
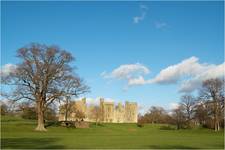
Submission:
M 3 138 L 1 149 L 63 149 L 56 138 Z

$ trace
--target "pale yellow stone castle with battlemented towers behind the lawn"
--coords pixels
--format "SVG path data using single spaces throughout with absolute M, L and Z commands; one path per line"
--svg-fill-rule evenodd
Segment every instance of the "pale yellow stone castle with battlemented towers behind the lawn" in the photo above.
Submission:
M 75 101 L 72 104 L 72 109 L 82 112 L 85 116 L 84 121 L 95 122 L 93 119 L 93 106 L 87 106 L 86 98 L 82 100 Z M 136 123 L 138 107 L 135 102 L 125 102 L 125 105 L 118 103 L 115 105 L 114 102 L 105 101 L 103 98 L 100 98 L 100 121 L 106 123 Z M 73 112 L 68 115 L 68 121 L 75 121 L 76 113 Z M 59 121 L 65 121 L 65 113 L 61 111 L 59 113 Z

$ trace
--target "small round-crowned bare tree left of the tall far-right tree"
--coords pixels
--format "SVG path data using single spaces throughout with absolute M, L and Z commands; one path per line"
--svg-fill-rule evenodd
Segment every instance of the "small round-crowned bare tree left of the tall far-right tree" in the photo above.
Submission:
M 187 122 L 189 124 L 194 117 L 195 98 L 190 94 L 183 95 L 181 96 L 180 105 L 184 108 Z

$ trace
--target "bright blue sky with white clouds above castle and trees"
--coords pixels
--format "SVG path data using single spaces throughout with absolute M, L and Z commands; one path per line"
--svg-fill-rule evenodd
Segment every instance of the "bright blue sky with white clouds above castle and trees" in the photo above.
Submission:
M 86 97 L 166 108 L 187 82 L 221 76 L 223 2 L 1 4 L 2 70 L 18 63 L 16 50 L 30 42 L 56 44 L 76 57 L 77 72 L 91 87 Z

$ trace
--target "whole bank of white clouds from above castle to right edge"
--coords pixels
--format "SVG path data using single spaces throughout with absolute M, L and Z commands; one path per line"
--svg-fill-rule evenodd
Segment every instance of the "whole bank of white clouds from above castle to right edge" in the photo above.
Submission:
M 126 80 L 128 86 L 145 84 L 178 84 L 179 92 L 192 92 L 201 86 L 203 80 L 224 77 L 225 63 L 215 65 L 200 63 L 195 56 L 162 69 L 154 78 L 145 79 L 150 69 L 140 63 L 121 65 L 104 78 Z

